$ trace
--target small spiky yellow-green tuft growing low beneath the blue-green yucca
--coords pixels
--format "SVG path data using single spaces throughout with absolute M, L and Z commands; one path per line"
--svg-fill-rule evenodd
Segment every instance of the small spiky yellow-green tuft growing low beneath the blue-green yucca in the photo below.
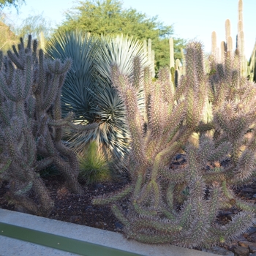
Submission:
M 110 181 L 112 172 L 110 162 L 100 151 L 96 141 L 91 141 L 83 153 L 79 154 L 79 178 L 86 184 L 95 184 Z

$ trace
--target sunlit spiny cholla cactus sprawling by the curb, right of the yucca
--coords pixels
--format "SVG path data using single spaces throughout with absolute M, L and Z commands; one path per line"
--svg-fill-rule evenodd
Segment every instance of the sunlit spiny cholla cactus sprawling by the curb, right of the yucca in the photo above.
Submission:
M 225 63 L 213 61 L 214 72 L 206 75 L 199 42 L 187 46 L 186 73 L 176 91 L 166 69 L 159 72 L 156 83 L 145 83 L 148 80 L 140 75 L 140 86 L 135 87 L 113 66 L 113 84 L 127 108 L 132 182 L 93 203 L 110 204 L 128 238 L 207 247 L 230 241 L 252 225 L 255 206 L 230 189 L 255 174 L 255 132 L 246 132 L 255 123 L 256 88 L 240 78 L 239 68 L 238 56 L 227 53 Z M 137 103 L 137 91 L 143 86 L 145 95 L 150 91 L 147 124 Z M 206 99 L 214 118 L 203 123 Z M 188 143 L 192 132 L 200 134 L 198 146 Z M 170 163 L 181 149 L 187 162 L 173 168 Z M 128 208 L 118 204 L 124 197 L 129 197 Z M 227 225 L 217 224 L 219 210 L 232 206 L 242 211 Z

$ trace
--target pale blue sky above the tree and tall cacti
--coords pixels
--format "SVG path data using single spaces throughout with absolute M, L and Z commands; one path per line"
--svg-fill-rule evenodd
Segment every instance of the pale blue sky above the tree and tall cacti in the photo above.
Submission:
M 43 14 L 57 26 L 65 19 L 65 13 L 77 5 L 72 0 L 25 0 L 19 8 L 19 17 Z M 157 16 L 164 25 L 173 26 L 173 37 L 197 39 L 206 53 L 211 51 L 211 33 L 217 32 L 217 44 L 225 41 L 225 20 L 230 19 L 233 48 L 235 48 L 238 0 L 122 0 L 123 8 L 132 7 L 148 17 Z M 249 59 L 255 45 L 256 0 L 243 0 L 245 55 Z M 14 9 L 5 8 L 17 20 Z M 18 20 L 20 20 L 18 18 Z

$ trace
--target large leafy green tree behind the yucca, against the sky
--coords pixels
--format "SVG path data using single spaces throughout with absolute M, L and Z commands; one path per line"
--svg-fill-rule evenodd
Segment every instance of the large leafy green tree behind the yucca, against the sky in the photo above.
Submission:
M 57 29 L 70 31 L 82 29 L 91 34 L 124 34 L 140 41 L 152 39 L 157 67 L 169 64 L 168 38 L 173 35 L 173 26 L 165 26 L 157 16 L 149 18 L 135 9 L 124 9 L 118 0 L 78 1 L 66 15 L 66 20 Z M 184 39 L 175 40 L 175 51 L 184 47 Z M 176 54 L 176 58 L 179 58 Z

